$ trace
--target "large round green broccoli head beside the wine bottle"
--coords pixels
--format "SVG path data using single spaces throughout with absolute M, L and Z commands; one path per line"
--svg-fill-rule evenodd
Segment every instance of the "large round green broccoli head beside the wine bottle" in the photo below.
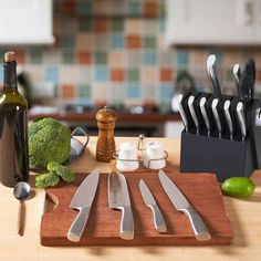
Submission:
M 29 126 L 29 160 L 32 167 L 45 168 L 48 163 L 62 164 L 69 158 L 71 133 L 53 118 L 43 118 Z

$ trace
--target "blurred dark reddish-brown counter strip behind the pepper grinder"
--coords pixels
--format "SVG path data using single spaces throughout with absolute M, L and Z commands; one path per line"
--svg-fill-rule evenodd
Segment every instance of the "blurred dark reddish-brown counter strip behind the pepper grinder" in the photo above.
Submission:
M 86 122 L 96 122 L 95 114 L 92 113 L 66 113 L 66 114 L 35 114 L 29 115 L 29 119 L 33 121 L 38 117 L 53 117 L 59 121 L 64 122 L 79 122 L 79 123 L 86 123 Z M 178 113 L 176 114 L 158 114 L 158 113 L 147 113 L 147 114 L 117 114 L 117 122 L 169 122 L 169 121 L 180 121 L 180 116 Z

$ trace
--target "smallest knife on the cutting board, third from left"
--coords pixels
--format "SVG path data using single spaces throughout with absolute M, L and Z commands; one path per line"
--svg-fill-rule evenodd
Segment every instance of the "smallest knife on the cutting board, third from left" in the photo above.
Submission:
M 145 181 L 143 179 L 139 180 L 139 190 L 142 192 L 144 202 L 153 211 L 155 229 L 160 233 L 166 232 L 167 228 L 166 228 L 166 223 L 165 223 L 165 220 L 163 218 L 161 211 L 159 210 L 159 208 L 158 208 L 158 206 L 157 206 L 157 203 L 154 199 L 154 196 L 150 192 L 148 186 L 145 184 Z

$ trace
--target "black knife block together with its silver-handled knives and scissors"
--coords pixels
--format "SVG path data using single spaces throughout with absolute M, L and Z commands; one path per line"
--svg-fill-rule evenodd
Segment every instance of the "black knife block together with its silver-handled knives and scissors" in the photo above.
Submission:
M 236 97 L 221 93 L 213 64 L 208 64 L 208 73 L 213 94 L 189 92 L 178 98 L 185 124 L 180 171 L 213 173 L 219 181 L 249 177 L 261 168 L 261 104 L 252 97 L 254 77 L 246 65 Z

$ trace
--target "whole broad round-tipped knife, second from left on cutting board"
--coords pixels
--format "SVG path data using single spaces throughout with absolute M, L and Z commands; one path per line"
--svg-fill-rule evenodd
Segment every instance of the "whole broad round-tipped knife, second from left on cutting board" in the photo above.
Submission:
M 125 177 L 119 173 L 108 176 L 108 206 L 122 211 L 119 237 L 125 240 L 134 238 L 133 211 Z

